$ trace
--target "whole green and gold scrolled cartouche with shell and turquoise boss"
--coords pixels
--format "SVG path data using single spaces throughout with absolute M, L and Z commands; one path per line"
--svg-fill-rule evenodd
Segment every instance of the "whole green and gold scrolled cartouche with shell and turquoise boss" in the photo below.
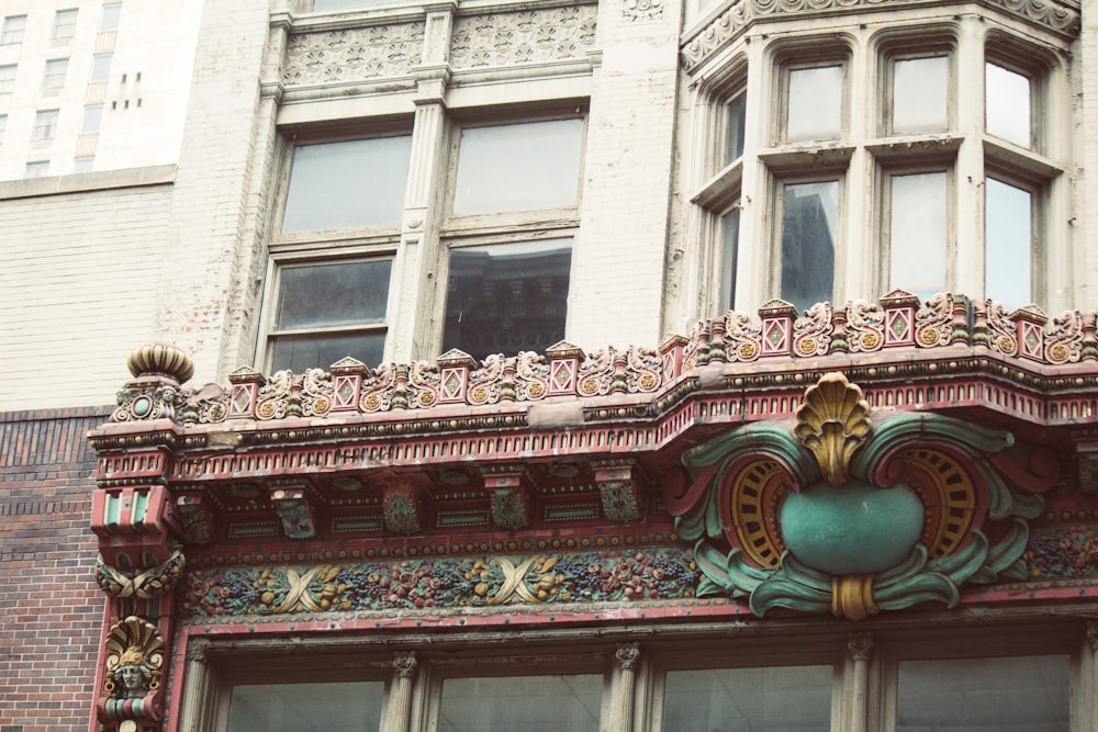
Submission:
M 792 429 L 747 425 L 688 451 L 663 498 L 695 542 L 699 596 L 746 598 L 760 617 L 952 608 L 966 583 L 1026 576 L 1028 520 L 1057 466 L 1013 442 L 941 415 L 872 414 L 830 373 Z

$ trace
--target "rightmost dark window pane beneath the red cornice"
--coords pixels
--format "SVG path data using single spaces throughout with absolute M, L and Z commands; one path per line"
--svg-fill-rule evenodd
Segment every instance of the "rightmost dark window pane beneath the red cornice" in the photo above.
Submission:
M 1066 655 L 899 664 L 897 732 L 1067 730 Z

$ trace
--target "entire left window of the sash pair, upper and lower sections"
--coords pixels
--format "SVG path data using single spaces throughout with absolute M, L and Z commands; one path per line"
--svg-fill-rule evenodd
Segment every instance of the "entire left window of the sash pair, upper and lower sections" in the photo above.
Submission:
M 326 368 L 384 358 L 389 282 L 411 135 L 299 145 L 272 251 L 267 362 Z

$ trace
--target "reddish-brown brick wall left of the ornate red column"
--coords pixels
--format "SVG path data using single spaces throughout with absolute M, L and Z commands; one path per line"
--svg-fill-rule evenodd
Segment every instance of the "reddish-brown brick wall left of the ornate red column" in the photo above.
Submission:
M 104 596 L 89 529 L 104 408 L 0 413 L 0 730 L 81 732 Z

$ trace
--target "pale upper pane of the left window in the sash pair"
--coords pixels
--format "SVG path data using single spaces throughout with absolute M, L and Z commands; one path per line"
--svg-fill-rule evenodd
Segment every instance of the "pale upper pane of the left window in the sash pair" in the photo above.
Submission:
M 411 135 L 294 148 L 282 230 L 399 224 L 411 155 Z

